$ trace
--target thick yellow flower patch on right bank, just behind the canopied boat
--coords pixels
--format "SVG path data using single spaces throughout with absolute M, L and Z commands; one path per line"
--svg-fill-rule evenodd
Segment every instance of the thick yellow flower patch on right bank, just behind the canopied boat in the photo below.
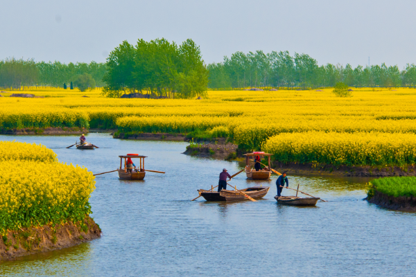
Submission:
M 285 133 L 268 139 L 262 149 L 283 163 L 404 166 L 416 163 L 416 134 Z

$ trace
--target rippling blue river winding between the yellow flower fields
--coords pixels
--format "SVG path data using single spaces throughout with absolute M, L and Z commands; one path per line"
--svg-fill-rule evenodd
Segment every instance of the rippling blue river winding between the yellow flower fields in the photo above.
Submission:
M 114 170 L 120 154 L 146 158 L 144 181 L 96 177 L 92 217 L 102 238 L 77 247 L 0 262 L 0 276 L 414 276 L 416 217 L 363 201 L 367 179 L 291 176 L 291 187 L 329 202 L 313 208 L 279 206 L 272 181 L 258 202 L 205 202 L 198 188 L 218 184 L 239 163 L 181 154 L 187 143 L 128 141 L 89 134 L 97 150 L 65 149 L 78 136 L 0 136 L 42 143 L 58 159 L 94 173 Z M 284 195 L 293 195 L 284 190 Z

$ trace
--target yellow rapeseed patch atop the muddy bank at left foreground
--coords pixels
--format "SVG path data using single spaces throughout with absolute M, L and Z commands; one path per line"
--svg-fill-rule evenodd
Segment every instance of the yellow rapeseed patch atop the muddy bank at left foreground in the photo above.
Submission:
M 0 142 L 0 231 L 83 220 L 91 213 L 92 172 L 60 163 L 36 144 Z

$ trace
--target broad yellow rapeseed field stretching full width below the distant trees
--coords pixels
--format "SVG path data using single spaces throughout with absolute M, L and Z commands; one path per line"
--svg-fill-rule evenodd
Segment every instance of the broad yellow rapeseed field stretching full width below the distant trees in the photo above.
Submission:
M 337 98 L 332 89 L 281 89 L 208 91 L 207 99 L 184 100 L 114 99 L 101 97 L 100 89 L 81 93 L 37 88 L 32 93 L 45 98 L 10 98 L 10 93 L 3 93 L 6 97 L 0 98 L 0 128 L 89 127 L 119 129 L 125 134 L 229 136 L 245 150 L 270 145 L 265 144 L 268 139 L 275 141 L 280 134 L 296 134 L 294 138 L 308 137 L 310 132 L 339 134 L 350 143 L 360 141 L 361 136 L 348 136 L 354 133 L 367 133 L 365 137 L 370 141 L 377 141 L 383 133 L 393 134 L 397 141 L 402 141 L 405 134 L 415 134 L 416 89 L 353 90 L 351 98 Z M 361 144 L 360 151 L 365 153 L 366 147 Z

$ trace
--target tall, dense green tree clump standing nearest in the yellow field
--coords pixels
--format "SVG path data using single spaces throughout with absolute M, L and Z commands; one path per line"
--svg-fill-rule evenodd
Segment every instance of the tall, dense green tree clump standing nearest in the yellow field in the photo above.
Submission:
M 139 39 L 134 46 L 124 41 L 107 58 L 103 94 L 124 93 L 153 97 L 193 98 L 206 96 L 208 71 L 199 46 L 187 39 L 180 46 L 166 39 Z

